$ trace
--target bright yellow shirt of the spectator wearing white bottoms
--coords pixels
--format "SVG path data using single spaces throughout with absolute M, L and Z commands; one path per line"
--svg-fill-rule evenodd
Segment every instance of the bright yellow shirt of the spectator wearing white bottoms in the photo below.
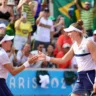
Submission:
M 15 26 L 18 24 L 18 21 L 19 20 L 17 20 L 15 22 Z M 16 29 L 15 31 L 16 31 L 16 35 L 27 37 L 29 32 L 32 32 L 31 23 L 30 22 L 26 22 L 26 23 L 21 22 L 19 29 L 18 30 Z

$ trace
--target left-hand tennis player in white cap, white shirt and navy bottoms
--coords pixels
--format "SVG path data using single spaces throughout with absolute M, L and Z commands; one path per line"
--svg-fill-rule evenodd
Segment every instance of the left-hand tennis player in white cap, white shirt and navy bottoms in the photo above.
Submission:
M 11 49 L 11 40 L 13 38 L 14 36 L 0 36 L 0 96 L 13 96 L 6 85 L 8 72 L 14 76 L 29 67 L 29 65 L 34 63 L 38 58 L 38 56 L 31 56 L 22 66 L 14 68 L 10 63 L 8 54 L 6 53 Z

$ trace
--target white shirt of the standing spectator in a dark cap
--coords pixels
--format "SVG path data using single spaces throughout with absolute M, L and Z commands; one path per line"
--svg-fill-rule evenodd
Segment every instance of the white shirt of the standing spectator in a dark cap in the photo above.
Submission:
M 50 42 L 50 37 L 51 37 L 50 32 L 54 31 L 52 20 L 49 20 L 49 19 L 46 20 L 44 17 L 42 17 L 39 23 L 47 24 L 51 26 L 51 28 L 49 29 L 49 28 L 41 27 L 38 24 L 36 40 L 41 42 Z

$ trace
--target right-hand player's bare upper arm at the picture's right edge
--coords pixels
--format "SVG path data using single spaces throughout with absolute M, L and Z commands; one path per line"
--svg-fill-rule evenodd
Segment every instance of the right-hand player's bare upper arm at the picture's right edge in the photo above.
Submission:
M 89 40 L 87 46 L 93 60 L 96 61 L 96 44 L 93 41 Z

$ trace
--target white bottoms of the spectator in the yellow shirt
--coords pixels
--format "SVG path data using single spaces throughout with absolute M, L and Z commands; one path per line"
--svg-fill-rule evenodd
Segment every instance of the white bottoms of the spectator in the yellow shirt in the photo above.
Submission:
M 16 50 L 22 50 L 24 45 L 27 43 L 28 37 L 15 35 L 14 37 L 14 47 Z

